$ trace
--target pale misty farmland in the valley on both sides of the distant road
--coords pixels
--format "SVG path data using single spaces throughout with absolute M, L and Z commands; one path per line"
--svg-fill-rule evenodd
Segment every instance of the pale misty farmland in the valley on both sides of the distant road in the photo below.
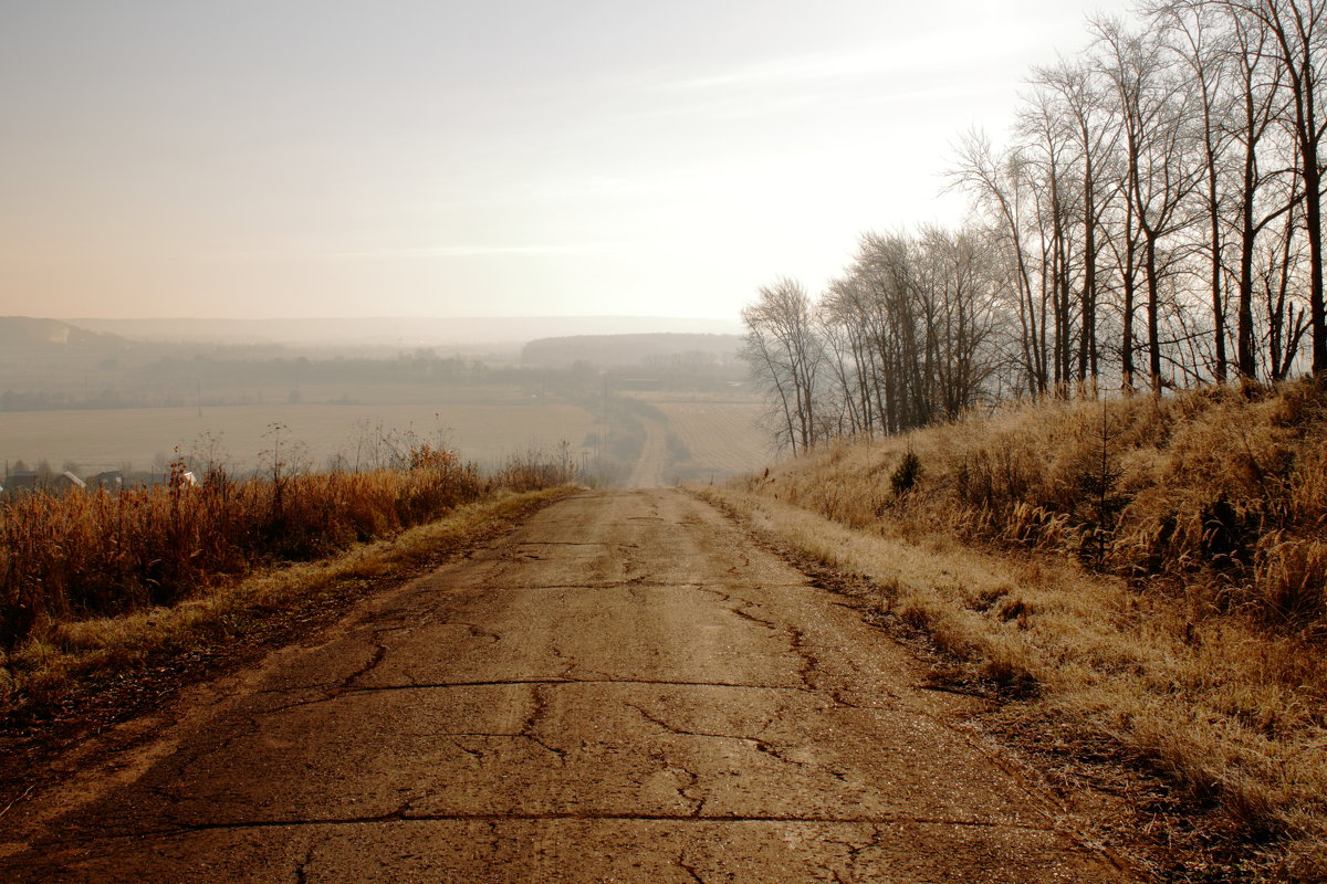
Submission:
M 9 411 L 0 414 L 0 461 L 29 468 L 46 461 L 80 474 L 119 469 L 163 473 L 180 456 L 191 465 L 218 461 L 240 474 L 271 463 L 275 443 L 292 468 L 324 469 L 337 461 L 354 468 L 380 460 L 384 440 L 414 433 L 454 448 L 482 468 L 508 456 L 551 449 L 567 441 L 579 456 L 601 429 L 601 403 L 564 395 L 541 396 L 516 384 L 422 387 L 415 384 L 303 388 L 303 402 L 275 395 L 247 404 L 196 400 L 169 408 Z M 666 419 L 673 480 L 726 478 L 771 460 L 759 427 L 759 403 L 740 396 L 694 392 L 620 392 L 653 406 Z M 598 406 L 596 408 L 594 406 Z M 610 435 L 625 441 L 618 410 Z M 279 437 L 273 435 L 279 425 Z M 397 440 L 399 441 L 399 440 Z M 638 451 L 621 451 L 625 481 Z M 340 460 L 337 460 L 340 459 Z M 612 481 L 610 478 L 606 481 Z

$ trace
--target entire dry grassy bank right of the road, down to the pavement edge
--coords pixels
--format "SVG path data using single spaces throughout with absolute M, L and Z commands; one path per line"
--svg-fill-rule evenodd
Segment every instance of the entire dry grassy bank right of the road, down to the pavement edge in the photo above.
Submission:
M 1247 863 L 1177 875 L 1327 880 L 1320 386 L 1009 407 L 710 494 L 868 578 L 949 677 L 1214 807 Z

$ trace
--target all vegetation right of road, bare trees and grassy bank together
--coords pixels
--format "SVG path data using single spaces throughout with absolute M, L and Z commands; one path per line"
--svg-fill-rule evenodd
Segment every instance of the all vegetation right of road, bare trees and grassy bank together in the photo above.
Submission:
M 714 494 L 1261 851 L 1184 880 L 1327 880 L 1324 12 L 1091 17 L 957 139 L 959 227 L 743 310 L 795 459 Z

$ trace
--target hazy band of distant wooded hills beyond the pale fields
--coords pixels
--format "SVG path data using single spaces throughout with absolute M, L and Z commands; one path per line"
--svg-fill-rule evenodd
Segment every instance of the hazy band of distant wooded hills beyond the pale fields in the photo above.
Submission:
M 53 319 L 0 317 L 0 411 L 272 402 L 377 402 L 389 388 L 522 386 L 717 390 L 747 378 L 739 335 L 548 338 L 522 353 L 314 349 L 130 341 Z

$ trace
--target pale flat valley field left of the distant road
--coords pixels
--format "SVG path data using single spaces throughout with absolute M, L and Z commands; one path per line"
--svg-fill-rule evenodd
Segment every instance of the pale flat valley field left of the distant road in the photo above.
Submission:
M 303 460 L 321 468 L 337 452 L 350 464 L 361 437 L 413 428 L 422 437 L 454 445 L 466 460 L 487 467 L 531 445 L 561 440 L 579 447 L 591 432 L 592 416 L 577 406 L 520 400 L 418 402 L 387 404 L 291 404 L 106 411 L 28 411 L 0 414 L 0 459 L 28 465 L 45 459 L 53 467 L 76 463 L 82 472 L 118 468 L 130 461 L 147 469 L 154 461 L 206 448 L 208 433 L 219 441 L 220 460 L 235 470 L 256 468 L 272 449 L 271 425 L 280 423 L 283 447 L 303 443 Z M 362 432 L 365 431 L 366 432 Z M 292 455 L 299 456 L 299 452 Z

